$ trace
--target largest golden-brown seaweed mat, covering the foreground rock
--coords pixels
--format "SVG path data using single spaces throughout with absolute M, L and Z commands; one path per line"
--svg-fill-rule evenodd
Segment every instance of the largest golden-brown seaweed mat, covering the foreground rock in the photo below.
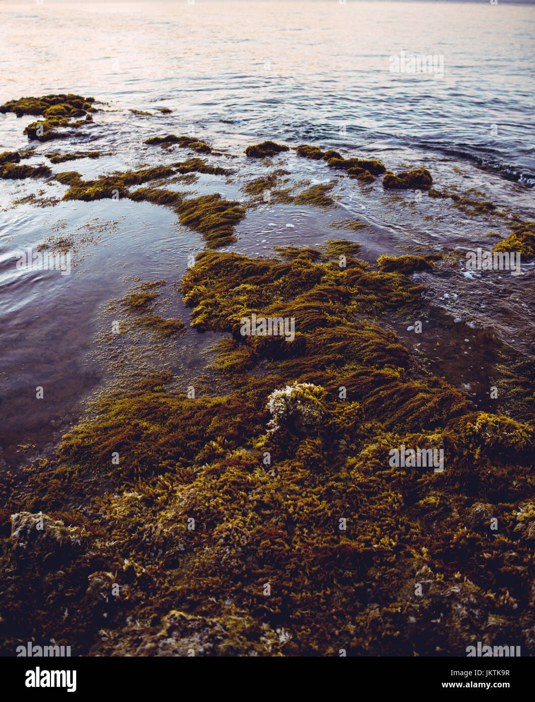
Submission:
M 197 256 L 184 301 L 196 328 L 233 335 L 212 364 L 226 394 L 154 373 L 102 395 L 29 472 L 4 513 L 2 650 L 38 635 L 98 656 L 431 656 L 489 635 L 531 651 L 533 425 L 474 412 L 357 321 L 421 288 L 351 243 L 330 252 L 353 254 L 342 268 L 310 247 Z M 250 312 L 292 314 L 294 341 L 242 336 Z M 393 467 L 401 445 L 443 447 L 445 470 Z M 84 498 L 88 479 L 111 489 Z

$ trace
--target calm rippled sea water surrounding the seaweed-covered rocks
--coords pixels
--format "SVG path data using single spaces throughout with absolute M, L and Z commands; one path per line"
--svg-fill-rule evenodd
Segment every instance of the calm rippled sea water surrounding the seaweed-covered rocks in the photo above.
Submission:
M 395 171 L 425 165 L 437 187 L 473 188 L 498 209 L 534 217 L 533 6 L 45 0 L 2 3 L 0 18 L 0 103 L 61 92 L 105 103 L 97 105 L 101 111 L 81 137 L 39 144 L 27 164 L 48 163 L 43 154 L 56 149 L 111 152 L 52 166 L 54 173 L 76 170 L 84 178 L 170 164 L 187 152 L 143 141 L 187 133 L 222 152 L 208 161 L 228 168 L 231 176 L 200 176 L 196 183 L 165 187 L 242 199 L 243 183 L 276 167 L 290 171 L 292 183 L 337 181 L 332 191 L 337 206 L 327 212 L 269 204 L 249 210 L 230 250 L 271 255 L 276 244 L 315 245 L 344 237 L 362 244 L 363 258 L 374 261 L 382 253 L 488 249 L 497 240 L 489 232 L 510 233 L 501 218 L 474 218 L 440 199 L 417 202 L 410 192 L 384 191 L 380 179 L 360 186 L 294 152 L 269 161 L 246 159 L 245 147 L 264 139 L 377 157 Z M 443 55 L 443 76 L 391 74 L 389 57 L 400 51 Z M 173 112 L 155 112 L 160 107 Z M 22 131 L 34 119 L 0 115 L 0 151 L 27 148 Z M 79 415 L 79 401 L 117 377 L 102 335 L 114 318 L 109 303 L 128 291 L 132 277 L 165 279 L 160 310 L 188 322 L 189 310 L 172 284 L 180 281 L 188 256 L 205 246 L 172 211 L 148 203 L 16 204 L 40 191 L 41 198 L 60 198 L 65 190 L 52 181 L 1 182 L 0 460 L 8 464 L 50 446 L 58 428 Z M 367 226 L 356 232 L 330 226 L 348 218 Z M 71 275 L 16 270 L 15 250 L 35 250 L 58 232 L 72 236 L 77 246 Z M 449 315 L 448 326 L 433 331 L 449 340 L 443 352 L 435 350 L 436 362 L 439 368 L 442 362 L 441 370 L 448 366 L 459 387 L 481 369 L 473 350 L 461 348 L 465 323 L 468 329 L 494 330 L 518 352 L 532 352 L 533 265 L 523 264 L 522 272 L 467 277 L 461 265 L 453 265 L 421 275 L 430 307 Z M 398 322 L 396 331 L 404 333 L 410 321 Z M 214 338 L 189 330 L 158 353 L 149 352 L 143 340 L 130 340 L 133 354 L 119 382 L 129 382 L 142 357 L 148 366 L 164 359 L 188 383 Z M 454 364 L 452 347 L 461 357 Z M 484 394 L 485 382 L 478 379 L 478 392 Z M 35 397 L 37 386 L 44 388 L 43 400 Z M 34 449 L 17 452 L 17 444 Z

